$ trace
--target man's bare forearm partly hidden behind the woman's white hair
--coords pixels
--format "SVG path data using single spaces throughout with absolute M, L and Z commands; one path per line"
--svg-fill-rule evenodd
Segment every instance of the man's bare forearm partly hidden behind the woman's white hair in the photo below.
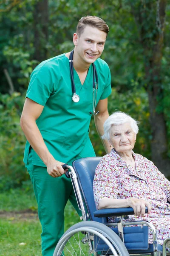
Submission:
M 101 136 L 104 134 L 104 122 L 105 120 L 109 117 L 108 112 L 104 113 L 104 114 L 97 114 L 96 116 L 94 116 L 94 122 L 96 125 L 96 130 L 101 138 Z M 102 139 L 101 139 L 102 140 Z M 110 153 L 111 152 L 111 148 L 109 146 L 109 143 L 107 140 L 102 140 L 103 146 L 105 148 L 106 153 Z

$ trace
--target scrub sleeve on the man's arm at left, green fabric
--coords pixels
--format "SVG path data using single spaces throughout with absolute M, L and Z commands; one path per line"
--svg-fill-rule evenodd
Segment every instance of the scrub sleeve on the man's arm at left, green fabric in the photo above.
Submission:
M 31 74 L 26 97 L 44 106 L 53 92 L 54 82 L 47 64 L 38 65 Z

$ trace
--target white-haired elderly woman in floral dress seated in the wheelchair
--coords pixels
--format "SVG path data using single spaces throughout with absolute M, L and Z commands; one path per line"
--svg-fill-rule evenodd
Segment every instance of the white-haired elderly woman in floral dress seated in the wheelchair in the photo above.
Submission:
M 113 146 L 111 153 L 102 157 L 94 176 L 94 198 L 97 209 L 132 207 L 135 215 L 124 221 L 143 219 L 154 224 L 158 243 L 170 237 L 170 181 L 153 162 L 133 148 L 138 133 L 136 120 L 126 113 L 113 113 L 104 124 L 102 139 Z M 145 207 L 148 214 L 144 214 Z M 110 217 L 109 222 L 114 222 Z M 149 243 L 152 243 L 149 234 Z M 168 245 L 169 247 L 169 245 Z

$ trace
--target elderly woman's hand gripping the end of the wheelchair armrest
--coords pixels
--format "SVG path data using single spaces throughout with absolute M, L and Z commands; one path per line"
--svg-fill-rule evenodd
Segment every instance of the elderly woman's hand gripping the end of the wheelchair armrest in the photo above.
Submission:
M 138 198 L 128 198 L 128 205 L 129 207 L 132 207 L 136 216 L 144 216 L 145 213 L 145 207 L 148 209 L 148 214 L 150 214 L 151 206 L 150 203 L 145 201 L 144 199 L 138 199 Z

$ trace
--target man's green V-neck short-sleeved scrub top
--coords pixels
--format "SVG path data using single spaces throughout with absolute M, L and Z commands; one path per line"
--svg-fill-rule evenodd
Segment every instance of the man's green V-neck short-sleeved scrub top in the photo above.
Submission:
M 97 105 L 100 99 L 111 94 L 111 74 L 108 64 L 100 58 L 95 61 L 95 67 L 99 80 Z M 50 153 L 64 163 L 79 155 L 89 140 L 89 112 L 93 111 L 93 66 L 89 67 L 83 85 L 74 70 L 74 83 L 80 97 L 77 103 L 72 101 L 69 59 L 62 54 L 43 61 L 34 69 L 26 93 L 26 97 L 44 106 L 36 121 L 37 126 Z M 29 148 L 27 141 L 24 163 L 28 162 Z M 32 161 L 34 165 L 45 166 L 35 151 Z

